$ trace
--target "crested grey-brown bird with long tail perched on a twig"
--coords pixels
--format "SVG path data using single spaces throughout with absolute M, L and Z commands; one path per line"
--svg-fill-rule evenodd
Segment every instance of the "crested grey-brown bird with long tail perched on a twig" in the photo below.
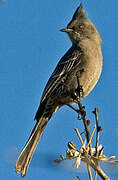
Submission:
M 82 4 L 67 27 L 61 31 L 68 34 L 72 46 L 58 62 L 44 89 L 35 116 L 36 125 L 16 161 L 16 172 L 21 173 L 21 176 L 26 174 L 35 148 L 52 115 L 63 105 L 77 103 L 80 93 L 78 86 L 82 86 L 81 98 L 87 96 L 102 71 L 102 40 Z

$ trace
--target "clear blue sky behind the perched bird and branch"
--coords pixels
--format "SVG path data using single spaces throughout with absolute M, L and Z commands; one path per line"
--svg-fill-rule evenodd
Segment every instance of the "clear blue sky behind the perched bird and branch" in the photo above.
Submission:
M 71 42 L 59 30 L 66 27 L 79 6 L 78 0 L 0 1 L 0 178 L 20 180 L 15 161 L 35 124 L 33 121 L 45 84 Z M 103 40 L 103 72 L 92 93 L 83 100 L 91 130 L 99 108 L 104 153 L 118 158 L 118 1 L 84 0 L 85 10 Z M 81 164 L 55 164 L 65 155 L 67 142 L 78 142 L 74 128 L 82 122 L 68 107 L 61 108 L 48 123 L 25 180 L 87 180 Z M 78 144 L 79 145 L 79 144 Z M 112 180 L 118 167 L 102 164 Z M 98 178 L 100 179 L 100 178 Z

